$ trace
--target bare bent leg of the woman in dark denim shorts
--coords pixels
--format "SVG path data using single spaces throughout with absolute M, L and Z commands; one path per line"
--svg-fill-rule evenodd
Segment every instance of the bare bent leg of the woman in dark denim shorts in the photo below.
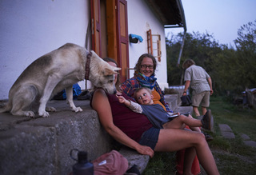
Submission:
M 202 133 L 182 129 L 161 129 L 154 151 L 174 152 L 191 147 L 196 150 L 198 160 L 207 174 L 219 174 L 214 157 Z M 194 159 L 190 158 L 185 162 L 191 160 L 193 161 Z M 188 164 L 191 169 L 192 162 Z

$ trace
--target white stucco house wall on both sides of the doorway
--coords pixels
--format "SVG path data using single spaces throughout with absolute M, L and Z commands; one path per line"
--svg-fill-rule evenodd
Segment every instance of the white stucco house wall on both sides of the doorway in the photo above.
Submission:
M 166 43 L 163 25 L 143 0 L 127 1 L 128 34 L 144 41 L 129 44 L 130 68 L 147 53 L 146 31 L 161 34 L 162 61 L 156 78 L 167 84 Z M 0 1 L 0 99 L 7 99 L 10 87 L 35 59 L 66 42 L 85 46 L 90 17 L 90 0 L 1 0 Z M 133 76 L 130 72 L 130 77 Z M 84 82 L 79 85 L 84 89 Z M 90 84 L 89 84 L 90 86 Z

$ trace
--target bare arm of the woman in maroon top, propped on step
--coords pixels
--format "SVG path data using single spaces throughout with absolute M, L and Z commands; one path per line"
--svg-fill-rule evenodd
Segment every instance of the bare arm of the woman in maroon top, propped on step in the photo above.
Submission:
M 102 123 L 104 129 L 106 129 L 106 132 L 109 133 L 110 136 L 114 137 L 116 141 L 122 143 L 123 145 L 137 150 L 138 153 L 153 157 L 154 151 L 150 147 L 139 145 L 138 142 L 128 137 L 126 133 L 123 133 L 121 129 L 114 125 L 110 102 L 104 90 L 95 90 L 92 99 L 92 106 L 98 113 L 99 121 Z

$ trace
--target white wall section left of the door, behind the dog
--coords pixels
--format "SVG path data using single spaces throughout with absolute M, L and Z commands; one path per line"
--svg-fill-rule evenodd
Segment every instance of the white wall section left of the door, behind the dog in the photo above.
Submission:
M 89 2 L 0 1 L 0 99 L 8 98 L 18 76 L 43 54 L 66 42 L 85 46 Z

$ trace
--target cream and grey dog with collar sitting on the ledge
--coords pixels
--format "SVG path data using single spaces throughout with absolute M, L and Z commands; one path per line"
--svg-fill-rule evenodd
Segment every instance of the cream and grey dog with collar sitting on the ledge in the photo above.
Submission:
M 13 115 L 49 117 L 46 103 L 54 94 L 66 89 L 66 101 L 74 112 L 82 111 L 73 101 L 73 84 L 89 79 L 94 86 L 102 87 L 108 93 L 116 93 L 114 86 L 115 70 L 99 58 L 94 51 L 67 43 L 43 55 L 30 64 L 18 77 L 9 92 L 9 101 L 0 113 Z M 54 111 L 54 108 L 47 109 Z

